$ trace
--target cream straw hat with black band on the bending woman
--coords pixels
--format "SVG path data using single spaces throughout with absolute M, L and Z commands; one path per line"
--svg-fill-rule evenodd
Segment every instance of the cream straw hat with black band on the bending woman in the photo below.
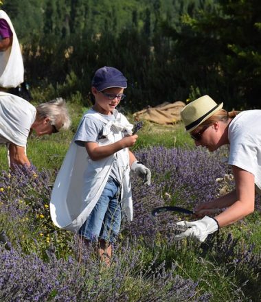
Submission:
M 192 132 L 197 126 L 223 107 L 223 103 L 216 104 L 209 95 L 203 95 L 194 100 L 181 111 L 181 118 L 185 124 L 185 130 Z

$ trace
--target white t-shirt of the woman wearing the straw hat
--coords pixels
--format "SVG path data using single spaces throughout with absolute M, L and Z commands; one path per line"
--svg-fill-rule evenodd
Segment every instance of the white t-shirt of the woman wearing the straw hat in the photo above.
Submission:
M 261 193 L 261 110 L 242 111 L 229 124 L 229 165 L 236 165 L 255 176 Z

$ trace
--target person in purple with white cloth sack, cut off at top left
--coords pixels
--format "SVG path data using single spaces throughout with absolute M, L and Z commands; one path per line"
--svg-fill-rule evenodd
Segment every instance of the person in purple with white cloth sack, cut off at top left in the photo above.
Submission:
M 23 58 L 12 22 L 0 10 L 0 91 L 11 92 L 23 83 Z

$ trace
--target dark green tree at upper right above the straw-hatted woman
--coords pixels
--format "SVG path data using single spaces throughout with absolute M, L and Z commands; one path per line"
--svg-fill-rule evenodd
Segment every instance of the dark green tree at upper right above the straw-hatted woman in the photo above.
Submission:
M 260 1 L 220 0 L 218 9 L 183 17 L 188 34 L 179 38 L 180 52 L 187 49 L 188 60 L 199 60 L 205 78 L 216 78 L 219 88 L 212 86 L 210 93 L 230 108 L 260 106 L 260 16 Z

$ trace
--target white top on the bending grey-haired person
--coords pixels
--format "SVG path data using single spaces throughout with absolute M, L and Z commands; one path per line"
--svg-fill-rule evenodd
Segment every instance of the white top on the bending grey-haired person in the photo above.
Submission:
M 0 92 L 1 143 L 25 147 L 30 128 L 36 118 L 36 108 L 21 97 Z

